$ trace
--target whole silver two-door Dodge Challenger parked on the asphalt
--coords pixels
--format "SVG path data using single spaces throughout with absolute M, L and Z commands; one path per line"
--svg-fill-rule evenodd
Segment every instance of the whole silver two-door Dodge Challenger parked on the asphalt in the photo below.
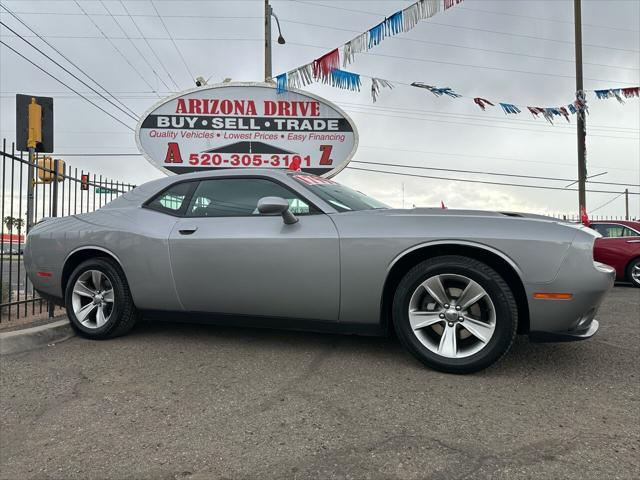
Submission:
M 382 335 L 466 373 L 516 334 L 598 330 L 613 268 L 591 229 L 511 212 L 398 210 L 327 178 L 251 169 L 162 178 L 100 210 L 32 228 L 24 260 L 76 331 L 141 316 Z

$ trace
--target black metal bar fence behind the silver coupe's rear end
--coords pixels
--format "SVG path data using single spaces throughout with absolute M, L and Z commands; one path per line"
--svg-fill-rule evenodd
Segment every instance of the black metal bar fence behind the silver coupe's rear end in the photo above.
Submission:
M 0 322 L 14 319 L 37 320 L 53 316 L 54 306 L 38 297 L 22 262 L 27 228 L 27 192 L 30 166 L 33 168 L 33 212 L 36 223 L 45 217 L 64 217 L 92 212 L 128 192 L 135 185 L 89 174 L 63 166 L 59 161 L 45 163 L 42 154 L 29 163 L 2 142 L 2 249 L 0 250 Z M 48 178 L 47 178 L 48 177 Z M 45 181 L 43 181 L 44 179 Z

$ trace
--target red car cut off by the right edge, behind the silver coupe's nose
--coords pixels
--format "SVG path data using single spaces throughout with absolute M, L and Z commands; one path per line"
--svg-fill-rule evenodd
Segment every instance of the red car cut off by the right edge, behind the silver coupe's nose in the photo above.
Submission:
M 616 269 L 616 279 L 640 287 L 640 222 L 597 221 L 589 225 L 602 235 L 596 239 L 593 257 Z

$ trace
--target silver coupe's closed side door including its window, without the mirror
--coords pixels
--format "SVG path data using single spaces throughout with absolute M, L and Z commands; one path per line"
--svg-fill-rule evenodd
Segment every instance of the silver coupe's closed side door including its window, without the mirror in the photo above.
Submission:
M 282 197 L 299 218 L 257 212 Z M 331 219 L 275 180 L 206 179 L 171 232 L 169 251 L 187 311 L 337 321 L 338 233 Z

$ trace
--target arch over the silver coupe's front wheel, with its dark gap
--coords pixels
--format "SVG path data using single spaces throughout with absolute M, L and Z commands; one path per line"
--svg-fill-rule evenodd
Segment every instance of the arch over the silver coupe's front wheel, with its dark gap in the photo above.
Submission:
M 416 245 L 398 255 L 391 262 L 385 278 L 381 299 L 381 322 L 387 331 L 393 331 L 392 304 L 396 286 L 416 264 L 441 255 L 462 255 L 486 263 L 496 270 L 512 288 L 518 306 L 518 333 L 529 332 L 529 304 L 522 281 L 522 272 L 504 253 L 487 245 L 465 241 L 439 241 Z

